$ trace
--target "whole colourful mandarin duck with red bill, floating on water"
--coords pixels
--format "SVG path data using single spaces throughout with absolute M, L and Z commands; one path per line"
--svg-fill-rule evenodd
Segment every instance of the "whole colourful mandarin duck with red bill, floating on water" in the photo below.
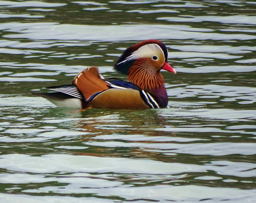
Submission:
M 168 63 L 168 51 L 156 39 L 142 41 L 127 48 L 114 69 L 126 74 L 128 81 L 105 79 L 97 67 L 84 69 L 72 85 L 53 86 L 54 92 L 33 93 L 59 107 L 147 109 L 165 108 L 168 95 L 161 69 L 176 73 Z

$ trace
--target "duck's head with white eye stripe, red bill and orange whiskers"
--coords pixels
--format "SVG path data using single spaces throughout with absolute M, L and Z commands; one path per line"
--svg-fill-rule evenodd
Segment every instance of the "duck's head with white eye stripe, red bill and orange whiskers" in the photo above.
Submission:
M 168 63 L 168 51 L 163 42 L 150 39 L 127 48 L 114 69 L 127 74 L 128 80 L 143 90 L 159 89 L 164 86 L 161 69 L 176 73 Z

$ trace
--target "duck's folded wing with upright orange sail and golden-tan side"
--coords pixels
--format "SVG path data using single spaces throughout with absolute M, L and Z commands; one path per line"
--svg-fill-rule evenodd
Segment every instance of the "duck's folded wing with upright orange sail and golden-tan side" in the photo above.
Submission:
M 140 96 L 138 87 L 122 80 L 102 80 L 88 69 L 74 79 L 89 106 L 108 109 L 144 109 L 148 106 Z

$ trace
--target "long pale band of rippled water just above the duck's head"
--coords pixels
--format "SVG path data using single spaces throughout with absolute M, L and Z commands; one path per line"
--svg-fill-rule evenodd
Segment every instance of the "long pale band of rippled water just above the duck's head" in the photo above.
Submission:
M 222 34 L 193 32 L 195 28 L 188 26 L 169 25 L 67 25 L 52 23 L 8 23 L 3 24 L 8 32 L 5 38 L 58 39 L 58 40 L 95 40 L 95 41 L 126 41 L 151 38 L 168 39 L 212 39 L 212 40 L 249 40 L 256 39 L 249 34 Z M 136 32 L 134 32 L 136 30 Z M 166 35 L 171 32 L 171 35 Z M 47 35 L 42 33 L 48 33 Z M 108 33 L 118 33 L 109 36 Z

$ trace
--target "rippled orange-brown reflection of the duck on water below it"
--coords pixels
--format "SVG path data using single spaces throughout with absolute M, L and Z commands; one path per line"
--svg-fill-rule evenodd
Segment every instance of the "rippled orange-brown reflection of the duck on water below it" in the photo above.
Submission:
M 99 111 L 102 110 L 80 112 L 85 118 L 79 121 L 79 131 L 86 133 L 80 141 L 88 148 L 79 155 L 155 157 L 159 160 L 159 152 L 144 150 L 146 145 L 152 144 L 152 148 L 155 148 L 156 144 L 169 142 L 158 140 L 157 136 L 174 136 L 173 133 L 168 132 L 167 135 L 164 131 L 156 130 L 168 125 L 159 110 L 112 110 L 103 111 L 102 116 L 95 117 Z

